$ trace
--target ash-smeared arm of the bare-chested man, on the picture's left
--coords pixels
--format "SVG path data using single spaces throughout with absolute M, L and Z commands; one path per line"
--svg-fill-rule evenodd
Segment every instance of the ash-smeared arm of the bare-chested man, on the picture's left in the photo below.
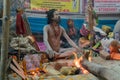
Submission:
M 43 40 L 44 40 L 44 43 L 45 43 L 47 49 L 52 51 L 52 48 L 48 42 L 48 28 L 47 28 L 47 26 L 44 26 L 44 29 L 43 29 Z

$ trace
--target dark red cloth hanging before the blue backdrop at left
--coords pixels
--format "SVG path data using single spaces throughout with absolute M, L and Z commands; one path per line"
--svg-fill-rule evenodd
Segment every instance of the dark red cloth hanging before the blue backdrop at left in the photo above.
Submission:
M 17 16 L 16 16 L 16 34 L 17 35 L 26 34 L 26 28 L 25 28 L 24 20 L 23 20 L 20 13 L 18 13 Z

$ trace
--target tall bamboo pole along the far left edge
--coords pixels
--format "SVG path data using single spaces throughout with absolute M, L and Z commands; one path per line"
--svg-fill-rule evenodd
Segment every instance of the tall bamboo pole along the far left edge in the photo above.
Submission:
M 10 0 L 3 0 L 0 80 L 5 80 L 8 61 Z

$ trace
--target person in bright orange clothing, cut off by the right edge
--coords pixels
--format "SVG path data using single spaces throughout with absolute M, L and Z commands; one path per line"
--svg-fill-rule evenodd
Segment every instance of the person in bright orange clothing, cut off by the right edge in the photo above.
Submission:
M 120 60 L 120 43 L 117 40 L 113 40 L 109 48 L 110 58 L 113 60 Z

